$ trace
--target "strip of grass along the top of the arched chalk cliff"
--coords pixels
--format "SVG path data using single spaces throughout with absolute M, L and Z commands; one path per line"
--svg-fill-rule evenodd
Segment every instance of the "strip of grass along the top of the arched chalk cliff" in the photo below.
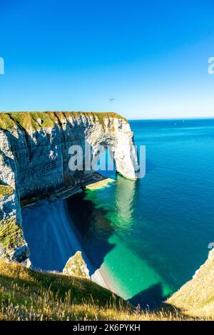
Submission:
M 52 128 L 54 125 L 66 122 L 70 117 L 91 116 L 103 124 L 106 118 L 119 118 L 126 120 L 116 113 L 93 112 L 10 112 L 0 113 L 0 129 L 12 130 L 17 125 L 24 130 L 39 130 Z

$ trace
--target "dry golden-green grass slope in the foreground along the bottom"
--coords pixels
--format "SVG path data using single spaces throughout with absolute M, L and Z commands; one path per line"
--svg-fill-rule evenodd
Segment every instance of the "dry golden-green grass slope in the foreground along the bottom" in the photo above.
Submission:
M 193 319 L 176 309 L 146 312 L 118 300 L 88 279 L 36 272 L 0 259 L 1 320 Z

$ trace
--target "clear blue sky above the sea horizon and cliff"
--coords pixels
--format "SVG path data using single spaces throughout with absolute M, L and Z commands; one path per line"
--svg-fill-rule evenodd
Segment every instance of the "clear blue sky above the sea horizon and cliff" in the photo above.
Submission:
M 0 0 L 0 110 L 214 117 L 214 3 Z

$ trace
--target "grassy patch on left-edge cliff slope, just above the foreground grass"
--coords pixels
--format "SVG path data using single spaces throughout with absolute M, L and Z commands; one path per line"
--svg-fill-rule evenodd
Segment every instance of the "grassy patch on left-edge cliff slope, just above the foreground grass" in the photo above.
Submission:
M 4 247 L 4 257 L 23 245 L 23 232 L 15 217 L 0 222 L 0 244 Z

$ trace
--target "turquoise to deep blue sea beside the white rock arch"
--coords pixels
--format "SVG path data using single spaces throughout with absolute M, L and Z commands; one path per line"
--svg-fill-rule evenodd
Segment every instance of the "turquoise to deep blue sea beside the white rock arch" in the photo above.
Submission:
M 131 121 L 131 128 L 136 144 L 146 145 L 146 177 L 103 172 L 116 183 L 74 195 L 66 205 L 91 272 L 101 269 L 117 294 L 153 308 L 193 276 L 214 241 L 214 120 Z M 50 265 L 45 254 L 50 247 L 58 254 L 57 243 L 53 234 L 44 242 L 38 206 L 23 211 L 24 233 L 34 267 L 52 269 L 56 258 Z M 48 227 L 58 214 L 42 206 Z M 69 252 L 66 244 L 56 269 Z

